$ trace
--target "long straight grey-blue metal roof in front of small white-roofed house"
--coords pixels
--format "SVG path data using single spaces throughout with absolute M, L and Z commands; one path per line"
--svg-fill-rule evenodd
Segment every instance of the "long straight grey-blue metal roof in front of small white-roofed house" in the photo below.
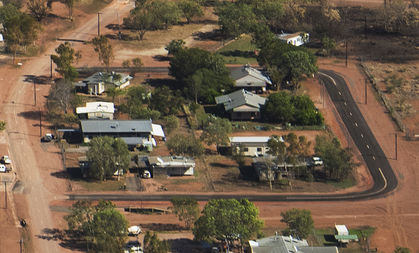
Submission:
M 151 120 L 80 120 L 83 133 L 151 133 Z

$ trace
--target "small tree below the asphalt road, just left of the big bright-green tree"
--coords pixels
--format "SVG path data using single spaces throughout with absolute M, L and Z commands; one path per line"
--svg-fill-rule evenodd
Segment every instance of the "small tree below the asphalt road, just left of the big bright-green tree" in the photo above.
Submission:
M 196 199 L 191 197 L 175 197 L 170 200 L 173 213 L 180 221 L 185 222 L 186 228 L 190 229 L 199 217 L 199 205 Z

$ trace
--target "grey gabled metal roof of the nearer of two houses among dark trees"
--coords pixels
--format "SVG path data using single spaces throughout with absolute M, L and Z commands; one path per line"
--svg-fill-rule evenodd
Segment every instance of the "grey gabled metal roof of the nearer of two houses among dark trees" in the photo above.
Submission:
M 242 105 L 248 105 L 260 109 L 260 107 L 265 104 L 266 98 L 242 89 L 227 95 L 218 96 L 215 98 L 215 102 L 217 104 L 224 104 L 226 111 Z

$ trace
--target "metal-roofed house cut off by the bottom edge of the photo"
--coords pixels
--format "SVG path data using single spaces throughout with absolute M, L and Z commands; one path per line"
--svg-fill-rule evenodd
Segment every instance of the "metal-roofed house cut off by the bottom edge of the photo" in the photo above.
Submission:
M 292 236 L 270 236 L 249 241 L 251 253 L 339 253 L 336 246 L 309 246 L 306 240 Z

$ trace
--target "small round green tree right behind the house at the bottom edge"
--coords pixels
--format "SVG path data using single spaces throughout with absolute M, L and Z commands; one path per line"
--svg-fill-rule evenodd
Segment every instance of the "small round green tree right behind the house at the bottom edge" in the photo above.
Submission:
M 299 238 L 307 238 L 314 228 L 311 212 L 306 209 L 293 208 L 281 212 L 281 221 L 287 224 L 285 234 Z

